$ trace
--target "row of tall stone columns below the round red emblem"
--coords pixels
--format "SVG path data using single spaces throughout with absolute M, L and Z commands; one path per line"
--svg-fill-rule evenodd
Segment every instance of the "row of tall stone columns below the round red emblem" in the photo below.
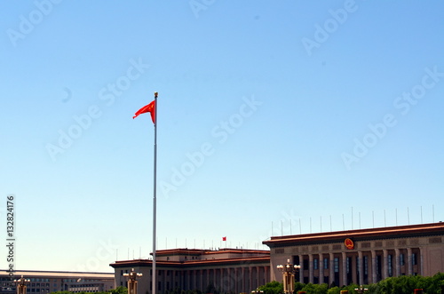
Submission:
M 381 250 L 378 250 L 379 252 Z M 400 276 L 401 274 L 415 274 L 414 273 L 414 265 L 413 265 L 413 249 L 407 248 L 404 249 L 404 251 L 407 251 L 407 260 L 405 260 L 405 265 L 407 266 L 407 271 L 405 273 L 401 273 L 401 264 L 400 264 L 400 256 L 401 256 L 401 250 L 400 249 L 394 249 L 394 260 L 392 260 L 392 265 L 389 266 L 389 250 L 382 250 L 382 256 L 381 256 L 381 265 L 377 265 L 377 250 L 369 250 L 369 251 L 354 251 L 354 252 L 346 252 L 343 251 L 341 253 L 319 253 L 319 254 L 308 254 L 308 268 L 304 268 L 304 258 L 306 260 L 307 255 L 299 255 L 299 282 L 304 282 L 306 274 L 308 274 L 308 281 L 314 283 L 315 278 L 315 271 L 316 271 L 316 277 L 319 279 L 319 283 L 324 282 L 324 278 L 329 278 L 329 284 L 332 282 L 337 283 L 337 275 L 339 275 L 339 283 L 340 285 L 347 285 L 351 282 L 358 283 L 358 284 L 365 284 L 365 283 L 375 283 L 380 280 L 384 280 L 385 278 L 388 278 L 389 276 Z M 416 274 L 422 274 L 423 273 L 423 254 L 422 250 L 420 248 L 417 248 L 416 250 L 416 263 L 417 263 L 417 270 L 418 273 Z M 348 254 L 347 254 L 348 253 Z M 353 258 L 356 258 L 357 253 L 357 262 L 353 260 Z M 340 255 L 339 255 L 340 254 Z M 323 258 L 325 256 L 329 256 L 329 269 L 324 269 L 324 263 Z M 340 260 L 339 257 L 340 256 Z M 367 263 L 367 281 L 364 281 L 364 256 L 369 258 L 369 262 Z M 318 257 L 318 266 L 315 270 L 314 266 L 314 258 Z M 337 260 L 337 265 L 335 265 L 335 258 Z M 348 260 L 347 265 L 347 258 L 352 258 Z M 357 263 L 357 265 L 356 265 Z M 348 271 L 347 271 L 348 266 Z M 389 273 L 389 269 L 392 269 L 392 272 Z M 347 274 L 352 274 L 352 281 L 349 281 L 349 277 Z M 359 278 L 358 278 L 358 277 Z M 359 280 L 359 281 L 357 281 Z

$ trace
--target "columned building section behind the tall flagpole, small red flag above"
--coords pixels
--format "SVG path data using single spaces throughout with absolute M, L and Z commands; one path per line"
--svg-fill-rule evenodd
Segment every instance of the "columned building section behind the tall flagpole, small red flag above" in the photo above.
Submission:
M 151 293 L 153 260 L 122 260 L 110 266 L 115 269 L 116 286 L 126 287 L 123 274 L 133 268 L 143 274 L 139 278 L 139 294 Z M 157 293 L 174 289 L 250 293 L 270 282 L 268 250 L 157 250 L 155 266 Z

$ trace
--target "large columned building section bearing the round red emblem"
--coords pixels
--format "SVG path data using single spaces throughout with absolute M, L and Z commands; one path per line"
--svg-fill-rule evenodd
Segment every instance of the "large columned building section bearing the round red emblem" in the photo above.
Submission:
M 298 282 L 369 284 L 400 275 L 444 272 L 444 223 L 271 237 L 270 279 L 288 260 Z

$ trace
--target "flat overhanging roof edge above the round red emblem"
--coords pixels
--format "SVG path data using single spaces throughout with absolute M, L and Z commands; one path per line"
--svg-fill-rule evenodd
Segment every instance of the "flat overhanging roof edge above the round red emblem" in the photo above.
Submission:
M 367 241 L 389 238 L 405 238 L 425 235 L 444 234 L 444 223 L 432 223 L 410 226 L 385 226 L 358 230 L 316 233 L 293 234 L 285 236 L 273 236 L 270 240 L 262 242 L 270 248 L 289 245 L 321 244 L 331 242 L 344 242 L 345 238 L 353 238 L 354 241 Z

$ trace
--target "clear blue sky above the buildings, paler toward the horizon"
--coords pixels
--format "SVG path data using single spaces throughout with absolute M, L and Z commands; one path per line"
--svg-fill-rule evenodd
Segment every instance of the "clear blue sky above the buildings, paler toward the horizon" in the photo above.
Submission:
M 14 266 L 111 272 L 147 257 L 154 127 L 132 115 L 154 91 L 158 249 L 444 219 L 443 13 L 3 2 L 0 227 L 14 195 Z

